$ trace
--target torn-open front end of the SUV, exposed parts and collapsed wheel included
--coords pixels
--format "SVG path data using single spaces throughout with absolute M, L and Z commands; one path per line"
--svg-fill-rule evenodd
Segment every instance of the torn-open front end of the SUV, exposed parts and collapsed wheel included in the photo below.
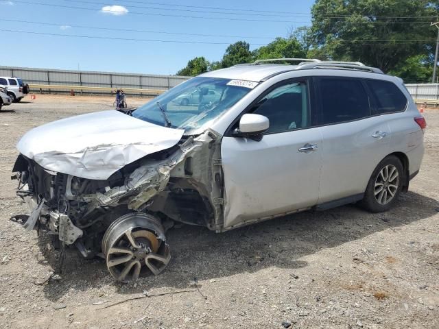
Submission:
M 170 259 L 164 223 L 222 230 L 220 142 L 209 130 L 183 136 L 106 180 L 50 171 L 21 154 L 12 178 L 32 210 L 25 229 L 45 230 L 55 247 L 74 245 L 86 258 L 104 256 L 117 280 L 158 274 Z

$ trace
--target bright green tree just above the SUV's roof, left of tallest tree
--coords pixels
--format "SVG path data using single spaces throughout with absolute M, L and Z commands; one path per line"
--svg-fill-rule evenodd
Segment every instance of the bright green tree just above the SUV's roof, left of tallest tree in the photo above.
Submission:
M 266 46 L 253 51 L 254 58 L 264 60 L 268 58 L 304 58 L 305 49 L 296 38 L 276 38 Z

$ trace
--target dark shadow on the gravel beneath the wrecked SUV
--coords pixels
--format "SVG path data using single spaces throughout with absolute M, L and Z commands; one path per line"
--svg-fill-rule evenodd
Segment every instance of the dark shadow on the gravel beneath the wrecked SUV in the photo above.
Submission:
M 167 234 L 173 259 L 160 276 L 141 278 L 136 285 L 123 285 L 111 278 L 104 260 L 85 260 L 71 250 L 64 260 L 61 279 L 51 280 L 44 291 L 49 300 L 56 301 L 71 288 L 86 290 L 114 285 L 119 293 L 139 293 L 141 289 L 160 287 L 187 288 L 193 280 L 273 266 L 294 270 L 307 265 L 300 260 L 302 256 L 431 217 L 438 213 L 438 207 L 437 200 L 409 192 L 401 195 L 392 210 L 381 214 L 348 205 L 280 217 L 222 234 L 183 226 Z M 48 239 L 41 238 L 46 260 L 57 269 L 59 253 L 47 251 Z

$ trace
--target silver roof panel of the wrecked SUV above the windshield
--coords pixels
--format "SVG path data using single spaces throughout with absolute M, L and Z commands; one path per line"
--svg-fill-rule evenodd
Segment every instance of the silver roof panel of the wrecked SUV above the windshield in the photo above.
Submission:
M 227 69 L 207 72 L 200 76 L 260 82 L 265 77 L 268 77 L 270 75 L 276 73 L 282 73 L 285 71 L 292 71 L 295 70 L 296 68 L 297 65 L 283 65 L 283 64 L 245 65 L 244 64 L 244 65 L 236 65 L 236 66 L 228 67 Z

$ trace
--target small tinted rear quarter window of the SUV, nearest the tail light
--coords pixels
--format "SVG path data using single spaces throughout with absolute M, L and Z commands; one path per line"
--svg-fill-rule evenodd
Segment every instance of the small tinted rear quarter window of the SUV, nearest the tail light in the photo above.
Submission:
M 366 80 L 372 93 L 375 114 L 402 112 L 407 106 L 407 98 L 392 82 L 382 80 Z

